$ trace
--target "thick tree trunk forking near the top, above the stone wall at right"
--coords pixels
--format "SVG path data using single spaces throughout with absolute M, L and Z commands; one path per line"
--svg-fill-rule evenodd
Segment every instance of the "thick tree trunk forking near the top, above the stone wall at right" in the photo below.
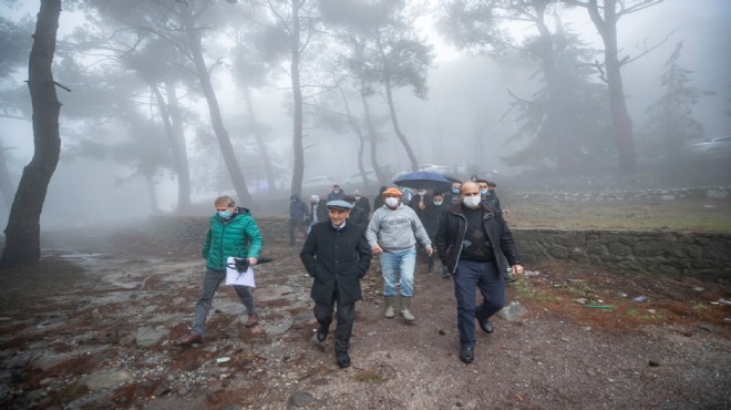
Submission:
M 619 155 L 619 172 L 626 175 L 637 173 L 637 158 L 635 156 L 635 141 L 632 123 L 627 112 L 625 90 L 621 79 L 621 62 L 617 49 L 617 0 L 605 0 L 604 19 L 599 12 L 597 0 L 587 4 L 589 17 L 601 35 L 604 42 L 604 58 L 607 70 L 607 85 L 609 88 L 609 107 L 615 129 L 617 154 Z

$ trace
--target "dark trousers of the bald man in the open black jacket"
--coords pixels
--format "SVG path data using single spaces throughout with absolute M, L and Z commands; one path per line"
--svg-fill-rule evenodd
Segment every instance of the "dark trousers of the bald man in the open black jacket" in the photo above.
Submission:
M 478 307 L 475 307 L 475 287 L 483 298 Z M 505 281 L 496 264 L 460 259 L 454 274 L 454 296 L 457 300 L 460 345 L 474 347 L 475 317 L 487 319 L 505 305 Z

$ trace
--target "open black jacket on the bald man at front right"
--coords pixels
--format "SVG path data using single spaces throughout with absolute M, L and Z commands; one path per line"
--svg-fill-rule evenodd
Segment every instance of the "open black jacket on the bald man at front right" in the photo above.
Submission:
M 504 266 L 505 259 L 501 257 L 500 253 L 505 255 L 511 266 L 521 264 L 517 247 L 515 246 L 515 240 L 513 240 L 513 234 L 507 227 L 502 213 L 495 212 L 485 204 L 482 204 L 482 208 L 485 212 L 485 216 L 482 219 L 483 226 L 487 233 L 490 243 L 493 245 L 497 270 L 501 275 L 505 275 L 507 266 Z M 467 218 L 462 211 L 462 204 L 453 205 L 449 211 L 442 213 L 434 243 L 436 244 L 439 258 L 452 274 L 456 271 L 456 266 L 460 263 L 462 243 L 464 242 L 466 230 Z

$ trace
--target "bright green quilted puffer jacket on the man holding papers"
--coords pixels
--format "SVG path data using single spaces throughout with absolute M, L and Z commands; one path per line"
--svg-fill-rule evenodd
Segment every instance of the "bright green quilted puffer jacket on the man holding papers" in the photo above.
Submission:
M 238 207 L 236 214 L 224 219 L 218 214 L 210 217 L 208 233 L 203 245 L 206 266 L 215 270 L 226 270 L 229 256 L 258 258 L 261 252 L 261 233 L 249 213 Z

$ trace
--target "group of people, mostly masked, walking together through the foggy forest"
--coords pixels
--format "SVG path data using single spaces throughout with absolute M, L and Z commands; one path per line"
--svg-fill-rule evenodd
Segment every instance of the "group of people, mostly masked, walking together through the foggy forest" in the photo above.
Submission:
M 515 242 L 503 218 L 506 211 L 500 208 L 500 202 L 485 198 L 488 195 L 482 194 L 480 181 L 454 183 L 446 194 L 428 195 L 419 189 L 408 204 L 402 202 L 400 189 L 382 187 L 370 217 L 368 199 L 359 192 L 353 194 L 346 195 L 336 185 L 325 204 L 312 195 L 309 208 L 299 196 L 290 197 L 290 216 L 297 217 L 289 225 L 290 245 L 295 245 L 294 232 L 299 230 L 305 237 L 299 256 L 313 278 L 310 297 L 319 325 L 316 339 L 327 339 L 336 315 L 336 361 L 341 368 L 350 366 L 354 304 L 362 297 L 360 279 L 369 271 L 373 256 L 379 257 L 383 276 L 384 317 L 391 319 L 399 314 L 405 322 L 413 322 L 419 247 L 428 257 L 430 271 L 436 255 L 443 276 L 454 279 L 460 359 L 471 363 L 475 319 L 484 332 L 492 334 L 490 318 L 505 304 L 507 265 L 514 274 L 523 274 Z M 208 260 L 203 295 L 196 304 L 192 332 L 178 340 L 179 346 L 203 341 L 213 295 L 225 277 L 225 257 L 247 258 L 249 265 L 256 265 L 261 249 L 261 236 L 248 209 L 237 207 L 227 196 L 217 198 L 215 205 L 217 214 L 210 217 L 203 252 Z M 250 290 L 238 285 L 234 288 L 247 308 L 246 326 L 256 326 Z M 480 305 L 475 288 L 483 297 Z

